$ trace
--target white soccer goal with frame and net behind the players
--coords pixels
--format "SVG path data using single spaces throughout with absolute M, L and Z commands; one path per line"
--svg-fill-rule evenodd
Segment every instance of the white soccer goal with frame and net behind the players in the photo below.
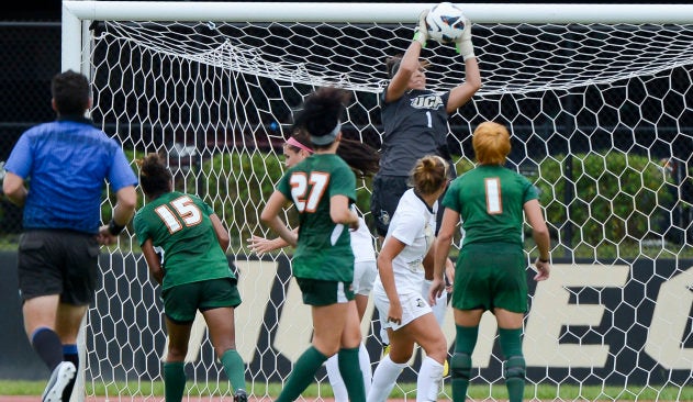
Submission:
M 385 59 L 405 51 L 417 15 L 432 5 L 63 1 L 63 68 L 90 77 L 94 122 L 133 161 L 166 155 L 176 188 L 213 204 L 230 228 L 243 298 L 236 343 L 252 397 L 276 397 L 266 386 L 281 384 L 311 340 L 291 249 L 258 258 L 246 245 L 253 234 L 275 236 L 258 217 L 283 171 L 293 113 L 317 87 L 346 88 L 344 135 L 379 147 Z M 527 392 L 679 399 L 693 378 L 693 5 L 458 5 L 473 22 L 483 80 L 449 119 L 458 174 L 473 166 L 476 125 L 506 124 L 508 167 L 539 188 L 551 230 L 554 271 L 530 283 L 524 327 Z M 452 46 L 429 42 L 422 56 L 431 62 L 428 87 L 463 81 Z M 361 178 L 364 212 L 369 194 L 370 179 Z M 287 211 L 287 219 L 295 216 Z M 527 248 L 528 278 L 534 257 Z M 152 397 L 167 339 L 159 291 L 132 230 L 101 263 L 80 378 L 88 395 L 105 388 L 112 399 Z M 375 367 L 372 305 L 362 331 Z M 444 331 L 451 347 L 451 312 Z M 484 317 L 472 356 L 476 399 L 502 398 L 495 337 Z M 231 399 L 202 322 L 187 360 L 189 397 Z M 400 378 L 407 399 L 418 361 L 420 354 Z M 324 372 L 316 382 L 315 398 L 327 398 Z M 575 394 L 566 395 L 569 388 Z

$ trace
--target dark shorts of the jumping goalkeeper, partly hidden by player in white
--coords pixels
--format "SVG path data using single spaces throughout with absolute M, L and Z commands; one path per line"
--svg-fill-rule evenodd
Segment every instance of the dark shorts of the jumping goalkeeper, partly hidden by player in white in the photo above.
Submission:
M 454 176 L 454 172 L 451 174 Z M 388 227 L 390 227 L 390 221 L 394 216 L 394 211 L 400 203 L 402 194 L 411 187 L 407 185 L 409 177 L 406 176 L 381 176 L 376 175 L 373 177 L 373 192 L 370 197 L 370 213 L 376 221 L 376 231 L 379 236 L 385 237 L 388 235 Z M 443 223 L 441 205 L 443 197 L 445 192 L 440 194 L 438 199 L 438 213 L 436 214 L 436 235 Z

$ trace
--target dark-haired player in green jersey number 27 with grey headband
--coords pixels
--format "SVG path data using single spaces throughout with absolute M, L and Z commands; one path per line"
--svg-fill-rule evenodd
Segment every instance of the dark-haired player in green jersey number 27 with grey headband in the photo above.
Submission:
M 287 170 L 260 215 L 264 224 L 297 247 L 292 272 L 313 316 L 312 346 L 295 361 L 279 402 L 298 399 L 335 354 L 349 400 L 366 400 L 349 236 L 349 227 L 358 226 L 358 215 L 350 209 L 356 200 L 356 177 L 336 155 L 347 100 L 348 92 L 327 87 L 309 96 L 295 126 L 310 134 L 314 153 Z M 298 235 L 280 217 L 288 202 L 299 212 Z

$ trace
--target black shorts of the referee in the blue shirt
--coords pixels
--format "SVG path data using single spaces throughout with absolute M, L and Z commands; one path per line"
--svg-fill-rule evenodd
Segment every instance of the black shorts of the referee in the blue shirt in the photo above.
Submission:
M 18 275 L 23 300 L 59 294 L 60 302 L 93 302 L 99 278 L 99 244 L 93 234 L 32 230 L 20 237 Z

